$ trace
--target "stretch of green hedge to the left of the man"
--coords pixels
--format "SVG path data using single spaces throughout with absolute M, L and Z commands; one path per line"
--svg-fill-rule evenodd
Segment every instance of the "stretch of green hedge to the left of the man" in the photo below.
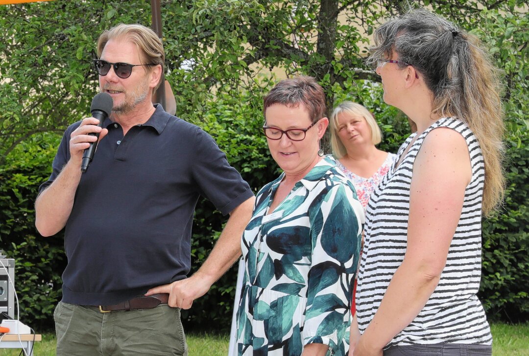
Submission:
M 15 258 L 20 317 L 35 330 L 53 325 L 66 266 L 62 233 L 43 238 L 35 229 L 35 197 L 50 175 L 59 142 L 57 135 L 32 137 L 0 166 L 0 248 L 8 258 Z

